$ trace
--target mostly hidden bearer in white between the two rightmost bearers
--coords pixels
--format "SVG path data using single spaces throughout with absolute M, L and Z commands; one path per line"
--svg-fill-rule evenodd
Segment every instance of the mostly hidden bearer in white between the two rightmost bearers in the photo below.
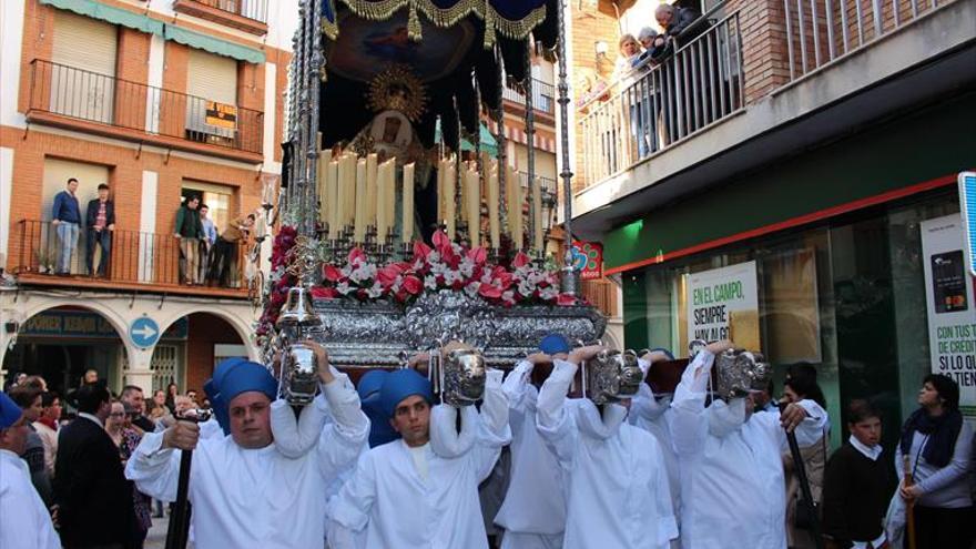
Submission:
M 674 356 L 665 349 L 653 349 L 643 357 L 648 370 L 654 367 L 655 363 L 664 360 L 673 360 Z M 643 367 L 643 364 L 641 365 Z M 671 444 L 671 396 L 664 396 L 658 399 L 651 392 L 651 387 L 642 383 L 637 396 L 630 405 L 630 414 L 627 420 L 630 425 L 640 427 L 654 436 L 658 446 L 661 448 L 661 455 L 664 457 L 664 467 L 668 470 L 668 485 L 671 490 L 671 507 L 674 509 L 674 516 L 681 516 L 681 480 L 678 471 L 678 457 L 674 455 L 674 448 Z M 680 522 L 679 522 L 680 526 Z M 674 542 L 672 546 L 677 546 Z

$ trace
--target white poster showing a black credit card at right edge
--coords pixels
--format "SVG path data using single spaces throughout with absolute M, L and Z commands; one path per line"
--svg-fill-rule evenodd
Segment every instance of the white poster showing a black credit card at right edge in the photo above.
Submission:
M 976 418 L 976 308 L 958 214 L 922 222 L 922 261 L 932 372 L 959 384 L 959 407 Z

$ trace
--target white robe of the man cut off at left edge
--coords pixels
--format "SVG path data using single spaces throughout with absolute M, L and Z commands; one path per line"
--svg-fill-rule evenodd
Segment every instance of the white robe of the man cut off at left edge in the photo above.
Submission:
M 0 548 L 61 549 L 61 539 L 31 484 L 27 462 L 3 449 L 0 449 Z

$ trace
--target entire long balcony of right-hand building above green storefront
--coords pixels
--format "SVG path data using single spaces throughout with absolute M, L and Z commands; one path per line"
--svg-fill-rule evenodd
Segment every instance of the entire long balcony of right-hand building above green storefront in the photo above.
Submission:
M 719 2 L 672 51 L 577 98 L 575 214 L 592 214 L 579 228 L 647 207 L 657 182 L 682 182 L 682 191 L 660 191 L 667 202 L 786 154 L 777 149 L 787 146 L 787 129 L 800 140 L 790 145 L 795 150 L 843 132 L 841 124 L 897 111 L 898 101 L 918 101 L 893 99 L 878 91 L 881 82 L 921 80 L 902 95 L 935 94 L 913 69 L 972 44 L 973 29 L 959 20 L 973 20 L 969 0 Z M 946 82 L 950 64 L 935 69 Z M 845 116 L 813 116 L 858 94 L 877 101 Z M 705 174 L 706 161 L 720 155 L 723 167 Z M 642 205 L 603 207 L 638 192 L 647 193 Z

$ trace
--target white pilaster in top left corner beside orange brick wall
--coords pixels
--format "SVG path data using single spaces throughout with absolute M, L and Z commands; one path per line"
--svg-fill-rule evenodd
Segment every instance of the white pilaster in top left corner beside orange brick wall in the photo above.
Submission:
M 20 92 L 20 51 L 23 43 L 22 0 L 0 2 L 0 125 L 26 128 L 27 121 L 17 111 Z M 51 37 L 47 37 L 50 40 Z M 24 65 L 30 70 L 30 65 Z M 6 231 L 6 226 L 3 230 Z

